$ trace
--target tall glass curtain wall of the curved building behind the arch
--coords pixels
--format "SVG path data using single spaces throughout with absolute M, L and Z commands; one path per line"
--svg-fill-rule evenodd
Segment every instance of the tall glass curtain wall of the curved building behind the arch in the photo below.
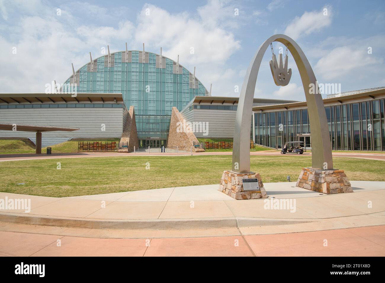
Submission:
M 333 150 L 385 150 L 384 99 L 326 106 L 326 118 Z M 285 142 L 303 140 L 310 147 L 307 109 L 254 114 L 255 142 L 280 149 Z

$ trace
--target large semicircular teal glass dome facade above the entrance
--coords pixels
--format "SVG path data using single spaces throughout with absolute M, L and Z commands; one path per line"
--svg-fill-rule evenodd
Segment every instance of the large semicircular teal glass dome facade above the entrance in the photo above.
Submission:
M 173 106 L 181 111 L 194 96 L 208 95 L 193 74 L 177 62 L 151 52 L 121 51 L 101 56 L 75 73 L 77 92 L 122 93 L 127 107 L 136 115 L 171 115 Z M 179 70 L 178 70 L 179 69 Z M 65 84 L 73 84 L 71 75 Z

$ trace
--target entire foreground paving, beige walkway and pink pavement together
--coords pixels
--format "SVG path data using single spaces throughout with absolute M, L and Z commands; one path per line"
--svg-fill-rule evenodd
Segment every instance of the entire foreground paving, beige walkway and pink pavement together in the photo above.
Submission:
M 69 198 L 0 193 L 31 199 L 29 213 L 0 211 L 0 254 L 384 256 L 385 182 L 352 187 L 323 195 L 265 183 L 270 199 L 295 200 L 295 211 L 234 200 L 216 184 Z

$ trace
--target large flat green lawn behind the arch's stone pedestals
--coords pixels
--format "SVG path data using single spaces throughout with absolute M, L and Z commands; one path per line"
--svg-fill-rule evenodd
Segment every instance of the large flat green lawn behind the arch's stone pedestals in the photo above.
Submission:
M 61 162 L 58 170 L 57 162 Z M 150 169 L 146 169 L 149 162 Z M 350 180 L 385 181 L 383 161 L 334 158 Z M 264 182 L 296 181 L 307 156 L 251 156 Z M 0 191 L 39 196 L 80 196 L 142 189 L 219 184 L 231 156 L 127 156 L 0 162 Z M 25 183 L 18 185 L 18 183 Z

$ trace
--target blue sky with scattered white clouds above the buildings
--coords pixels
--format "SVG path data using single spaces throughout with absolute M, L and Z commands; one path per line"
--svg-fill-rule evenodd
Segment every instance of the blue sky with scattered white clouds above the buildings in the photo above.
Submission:
M 319 84 L 335 92 L 385 86 L 385 1 L 44 1 L 0 0 L 0 93 L 44 92 L 110 52 L 145 50 L 193 72 L 212 95 L 239 97 L 259 46 L 288 35 L 308 58 Z M 286 47 L 273 43 L 275 54 Z M 192 52 L 193 51 L 193 52 Z M 254 97 L 305 100 L 288 53 L 291 80 L 276 86 L 268 48 Z M 277 57 L 278 58 L 278 57 Z M 327 93 L 323 93 L 326 97 Z

